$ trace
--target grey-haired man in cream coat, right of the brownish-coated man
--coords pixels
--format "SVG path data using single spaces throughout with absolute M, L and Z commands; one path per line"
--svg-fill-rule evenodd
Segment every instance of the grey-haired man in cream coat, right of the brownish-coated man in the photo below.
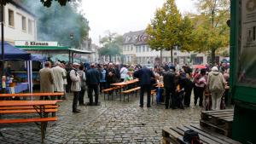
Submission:
M 55 92 L 64 92 L 64 77 L 65 73 L 63 68 L 61 68 L 61 62 L 57 61 L 56 66 L 52 68 L 52 72 L 54 75 L 54 87 L 55 87 Z M 58 99 L 61 99 L 61 96 L 58 96 Z

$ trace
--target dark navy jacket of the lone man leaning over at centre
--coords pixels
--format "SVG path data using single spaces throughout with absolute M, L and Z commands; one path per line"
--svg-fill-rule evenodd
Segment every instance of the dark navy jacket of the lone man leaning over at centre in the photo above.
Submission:
M 151 84 L 151 78 L 154 78 L 154 73 L 148 68 L 142 68 L 137 72 L 134 72 L 133 76 L 139 78 L 140 85 Z

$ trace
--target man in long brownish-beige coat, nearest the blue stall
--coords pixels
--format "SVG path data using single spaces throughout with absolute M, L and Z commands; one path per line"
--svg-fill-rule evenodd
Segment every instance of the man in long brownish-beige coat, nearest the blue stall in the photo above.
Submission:
M 54 76 L 51 70 L 51 64 L 49 61 L 45 62 L 44 68 L 39 71 L 40 76 L 40 91 L 42 93 L 54 92 Z M 41 96 L 40 100 L 49 99 L 48 96 Z

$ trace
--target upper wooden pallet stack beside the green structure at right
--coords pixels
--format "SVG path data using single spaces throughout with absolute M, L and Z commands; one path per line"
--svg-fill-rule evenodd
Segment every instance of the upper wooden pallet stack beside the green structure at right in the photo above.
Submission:
M 231 136 L 234 110 L 218 110 L 201 112 L 201 126 L 218 134 Z

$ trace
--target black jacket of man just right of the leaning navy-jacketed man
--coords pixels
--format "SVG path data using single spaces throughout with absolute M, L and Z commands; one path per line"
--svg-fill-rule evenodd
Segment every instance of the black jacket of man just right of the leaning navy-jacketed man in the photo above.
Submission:
M 175 73 L 172 71 L 164 72 L 164 85 L 165 89 L 176 89 L 176 84 L 175 84 Z

